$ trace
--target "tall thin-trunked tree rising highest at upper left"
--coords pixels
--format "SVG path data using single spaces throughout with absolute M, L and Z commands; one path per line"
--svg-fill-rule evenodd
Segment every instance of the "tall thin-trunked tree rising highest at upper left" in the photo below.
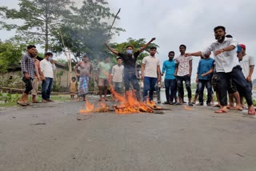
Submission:
M 3 19 L 21 19 L 22 24 L 0 22 L 6 30 L 17 30 L 19 38 L 44 45 L 45 52 L 52 46 L 52 33 L 57 30 L 62 18 L 70 14 L 70 0 L 19 0 L 19 10 L 0 6 L 0 17 Z

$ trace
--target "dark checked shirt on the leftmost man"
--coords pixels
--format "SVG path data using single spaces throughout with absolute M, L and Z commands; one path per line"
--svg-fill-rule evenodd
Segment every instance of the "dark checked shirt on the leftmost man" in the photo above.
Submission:
M 22 65 L 22 76 L 25 76 L 25 74 L 27 73 L 30 75 L 30 78 L 34 78 L 34 74 L 36 70 L 34 66 L 34 58 L 30 57 L 30 54 L 25 54 L 22 57 L 21 65 Z

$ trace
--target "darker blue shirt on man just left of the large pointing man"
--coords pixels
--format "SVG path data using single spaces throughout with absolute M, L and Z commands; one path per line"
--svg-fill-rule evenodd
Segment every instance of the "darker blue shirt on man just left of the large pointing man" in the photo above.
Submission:
M 212 78 L 212 73 L 207 74 L 206 76 L 202 77 L 202 74 L 207 73 L 210 69 L 214 68 L 214 59 L 207 58 L 202 59 L 198 63 L 198 79 L 199 80 L 210 80 Z

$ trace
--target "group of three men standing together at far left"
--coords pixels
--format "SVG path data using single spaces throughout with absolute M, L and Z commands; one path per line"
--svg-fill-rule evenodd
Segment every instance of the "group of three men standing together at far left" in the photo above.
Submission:
M 25 91 L 17 103 L 22 106 L 30 105 L 28 95 L 32 90 L 32 103 L 38 103 L 38 85 L 42 81 L 42 102 L 47 103 L 50 99 L 50 92 L 53 86 L 54 65 L 53 54 L 48 52 L 45 58 L 39 58 L 36 46 L 27 46 L 27 53 L 22 57 L 22 81 L 25 82 Z

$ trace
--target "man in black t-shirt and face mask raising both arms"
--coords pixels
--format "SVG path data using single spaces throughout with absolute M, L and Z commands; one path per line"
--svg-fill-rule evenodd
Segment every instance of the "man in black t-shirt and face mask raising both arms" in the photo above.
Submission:
M 134 89 L 136 89 L 136 97 L 138 101 L 141 100 L 140 93 L 139 93 L 139 85 L 138 85 L 138 79 L 136 78 L 136 70 L 135 65 L 138 58 L 138 55 L 142 53 L 143 50 L 146 49 L 147 46 L 150 45 L 151 42 L 153 42 L 155 38 L 151 38 L 150 42 L 147 42 L 146 45 L 144 45 L 140 50 L 133 53 L 134 47 L 133 46 L 127 46 L 126 47 L 126 54 L 119 53 L 118 51 L 111 48 L 107 43 L 105 43 L 106 47 L 113 53 L 118 55 L 122 58 L 123 65 L 124 65 L 124 85 L 126 91 L 129 91 L 130 84 L 133 85 Z

